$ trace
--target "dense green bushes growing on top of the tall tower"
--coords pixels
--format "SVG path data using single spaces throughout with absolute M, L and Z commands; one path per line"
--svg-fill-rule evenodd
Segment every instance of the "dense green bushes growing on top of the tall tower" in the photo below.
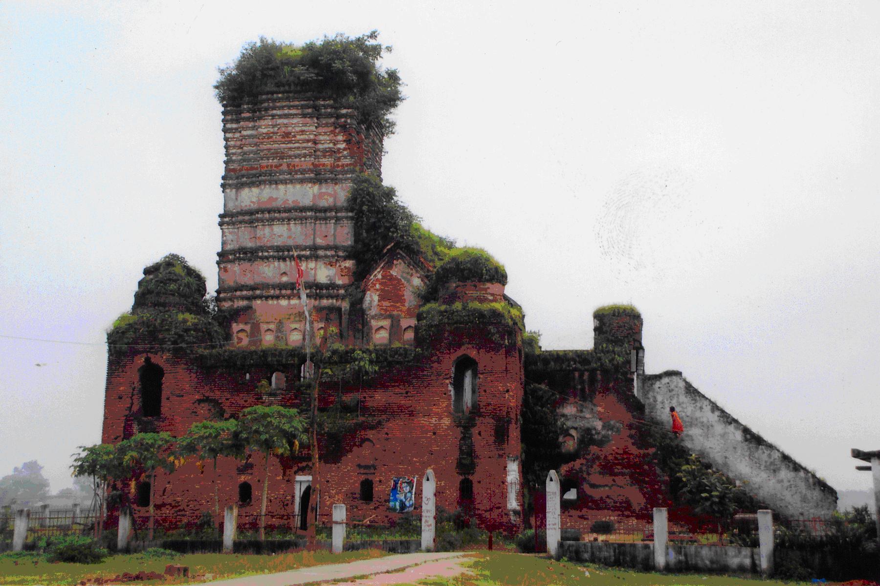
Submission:
M 379 67 L 391 47 L 377 39 L 377 31 L 353 39 L 338 33 L 297 46 L 260 37 L 247 43 L 234 63 L 218 68 L 216 97 L 223 105 L 240 106 L 264 93 L 312 92 L 340 100 L 362 122 L 376 123 L 390 134 L 393 124 L 387 115 L 403 95 L 397 69 Z

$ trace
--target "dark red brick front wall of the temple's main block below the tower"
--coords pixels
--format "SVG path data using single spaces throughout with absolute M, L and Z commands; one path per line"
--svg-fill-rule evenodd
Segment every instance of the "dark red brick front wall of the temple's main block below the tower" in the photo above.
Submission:
M 363 519 L 375 515 L 373 523 L 396 518 L 388 511 L 388 491 L 395 476 L 417 476 L 419 485 L 425 470 L 434 469 L 436 502 L 448 510 L 458 508 L 456 469 L 461 431 L 453 421 L 451 376 L 456 359 L 467 355 L 478 363 L 479 414 L 473 417 L 475 470 L 473 478 L 474 519 L 480 525 L 503 525 L 507 512 L 507 456 L 519 454 L 518 409 L 522 402 L 523 371 L 517 336 L 508 344 L 473 336 L 473 332 L 451 332 L 438 336 L 434 351 L 421 362 L 380 373 L 365 385 L 328 382 L 320 392 L 319 409 L 326 409 L 341 394 L 344 400 L 360 396 L 363 427 L 343 438 L 341 453 L 334 453 L 327 438 L 319 440 L 319 452 L 326 454 L 320 466 L 321 512 L 333 503 L 345 503 L 348 516 Z M 270 402 L 303 407 L 304 397 L 294 390 L 297 366 L 282 371 L 287 388 L 277 396 L 263 397 L 256 387 L 270 380 L 268 367 L 201 369 L 184 358 L 150 354 L 153 363 L 165 371 L 162 415 L 140 415 L 140 384 L 137 369 L 145 354 L 111 357 L 107 370 L 104 431 L 102 441 L 117 443 L 138 430 L 155 429 L 180 436 L 192 423 L 212 413 L 236 416 L 242 409 Z M 499 423 L 509 423 L 499 425 Z M 502 431 L 501 433 L 499 433 Z M 243 515 L 259 511 L 265 460 L 253 454 L 245 463 L 220 458 L 217 477 L 221 504 L 235 503 L 238 483 L 253 486 L 253 503 L 241 507 Z M 270 514 L 292 513 L 295 478 L 310 475 L 308 451 L 295 459 L 270 457 Z M 374 482 L 374 501 L 359 500 L 360 481 Z M 172 474 L 159 473 L 156 489 L 158 515 L 197 518 L 213 509 L 211 464 L 198 467 L 187 462 Z M 522 502 L 521 496 L 519 503 Z M 416 512 L 421 506 L 421 488 L 416 488 Z M 323 517 L 322 517 L 323 518 Z M 516 527 L 514 527 L 516 528 Z

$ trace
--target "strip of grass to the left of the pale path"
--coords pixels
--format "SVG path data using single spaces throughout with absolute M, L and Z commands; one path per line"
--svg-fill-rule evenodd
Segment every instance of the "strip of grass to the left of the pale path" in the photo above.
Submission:
M 215 579 L 241 575 L 271 574 L 289 569 L 307 568 L 329 563 L 366 560 L 388 555 L 375 549 L 357 552 L 276 553 L 275 555 L 249 555 L 238 553 L 188 553 L 167 558 L 150 558 L 140 553 L 114 555 L 98 564 L 52 563 L 36 554 L 0 554 L 0 585 L 5 584 L 64 584 L 70 586 L 90 576 L 112 577 L 123 572 L 136 574 L 141 570 L 162 573 L 170 563 L 189 566 L 189 575 L 213 574 Z M 18 562 L 18 563 L 16 563 Z M 177 582 L 129 582 L 186 583 Z

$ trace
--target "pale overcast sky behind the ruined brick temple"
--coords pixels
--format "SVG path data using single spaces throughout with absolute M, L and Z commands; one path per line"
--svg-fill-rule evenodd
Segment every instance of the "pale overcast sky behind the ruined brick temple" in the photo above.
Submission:
M 377 28 L 384 178 L 506 264 L 545 348 L 642 311 L 677 369 L 838 489 L 880 449 L 880 4 L 0 4 L 0 475 L 70 485 L 105 331 L 177 252 L 216 288 L 216 67 Z M 686 421 L 686 412 L 682 413 Z

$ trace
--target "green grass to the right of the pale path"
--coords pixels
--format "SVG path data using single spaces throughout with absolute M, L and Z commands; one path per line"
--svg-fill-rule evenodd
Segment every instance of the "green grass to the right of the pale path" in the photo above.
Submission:
M 791 586 L 794 583 L 726 575 L 642 573 L 553 561 L 541 555 L 488 551 L 474 553 L 466 565 L 473 574 L 417 583 L 422 586 Z

